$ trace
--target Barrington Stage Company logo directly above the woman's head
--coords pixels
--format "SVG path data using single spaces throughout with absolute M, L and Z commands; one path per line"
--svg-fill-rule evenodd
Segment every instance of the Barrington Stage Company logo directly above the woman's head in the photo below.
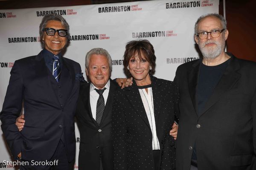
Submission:
M 133 38 L 147 38 L 147 37 L 176 37 L 177 34 L 173 30 L 169 31 L 151 31 L 151 32 L 133 32 Z

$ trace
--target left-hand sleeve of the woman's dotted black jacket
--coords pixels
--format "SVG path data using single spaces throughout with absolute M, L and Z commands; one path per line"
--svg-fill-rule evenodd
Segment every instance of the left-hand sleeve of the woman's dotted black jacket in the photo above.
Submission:
M 117 96 L 119 99 L 117 99 Z M 121 99 L 120 99 L 121 98 Z M 114 170 L 127 170 L 127 149 L 126 149 L 126 118 L 123 107 L 122 95 L 119 91 L 114 94 L 112 108 L 112 137 L 114 149 Z

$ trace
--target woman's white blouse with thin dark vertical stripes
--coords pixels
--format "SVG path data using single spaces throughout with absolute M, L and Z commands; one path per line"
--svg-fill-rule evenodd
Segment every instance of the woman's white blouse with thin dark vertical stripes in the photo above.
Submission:
M 152 132 L 152 148 L 153 150 L 160 150 L 160 144 L 157 138 L 156 122 L 154 117 L 154 102 L 152 88 L 148 88 L 148 93 L 145 91 L 145 88 L 139 89 L 139 91 Z

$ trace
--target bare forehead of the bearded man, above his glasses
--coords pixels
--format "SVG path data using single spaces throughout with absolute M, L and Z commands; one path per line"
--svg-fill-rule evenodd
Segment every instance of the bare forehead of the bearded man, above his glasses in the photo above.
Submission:
M 221 20 L 214 16 L 203 18 L 198 23 L 198 31 L 211 31 L 212 29 L 222 29 Z

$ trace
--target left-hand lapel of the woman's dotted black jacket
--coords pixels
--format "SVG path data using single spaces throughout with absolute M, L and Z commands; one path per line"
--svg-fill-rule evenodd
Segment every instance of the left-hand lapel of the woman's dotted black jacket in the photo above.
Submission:
M 143 102 L 140 97 L 140 92 L 139 92 L 136 82 L 134 80 L 133 80 L 133 84 L 130 87 L 125 88 L 125 96 L 128 98 L 128 101 L 131 103 L 134 110 L 137 111 L 137 114 L 140 115 L 140 117 L 143 119 L 145 124 L 150 129 L 148 117 L 147 117 Z

